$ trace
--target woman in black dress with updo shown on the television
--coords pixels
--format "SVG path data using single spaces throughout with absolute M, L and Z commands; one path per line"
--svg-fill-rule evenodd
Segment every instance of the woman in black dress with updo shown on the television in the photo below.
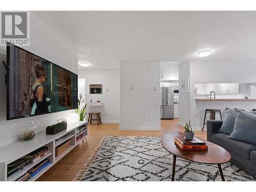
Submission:
M 35 75 L 36 80 L 32 86 L 32 95 L 30 98 L 30 106 L 32 108 L 31 115 L 49 113 L 51 102 L 46 96 L 44 87 L 42 87 L 42 83 L 47 80 L 44 66 L 39 64 L 35 65 Z

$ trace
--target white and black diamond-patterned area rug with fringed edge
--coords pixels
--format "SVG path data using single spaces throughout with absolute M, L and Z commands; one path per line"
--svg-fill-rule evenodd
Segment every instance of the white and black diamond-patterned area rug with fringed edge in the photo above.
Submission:
M 171 181 L 173 155 L 161 137 L 104 137 L 74 181 Z M 255 181 L 231 163 L 222 164 L 226 181 Z M 221 181 L 217 165 L 177 157 L 176 181 Z

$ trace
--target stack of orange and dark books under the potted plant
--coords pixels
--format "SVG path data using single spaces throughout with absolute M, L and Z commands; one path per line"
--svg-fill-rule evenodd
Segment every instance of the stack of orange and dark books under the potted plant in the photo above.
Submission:
M 206 143 L 197 137 L 194 137 L 192 141 L 186 140 L 182 136 L 176 136 L 174 139 L 176 146 L 180 147 L 182 151 L 207 151 L 208 146 Z

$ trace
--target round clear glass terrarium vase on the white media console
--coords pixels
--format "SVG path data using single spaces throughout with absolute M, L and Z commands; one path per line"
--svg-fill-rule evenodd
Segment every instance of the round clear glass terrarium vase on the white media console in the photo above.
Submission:
M 22 129 L 20 129 L 20 139 L 22 141 L 28 141 L 35 137 L 36 126 L 34 121 L 23 123 Z

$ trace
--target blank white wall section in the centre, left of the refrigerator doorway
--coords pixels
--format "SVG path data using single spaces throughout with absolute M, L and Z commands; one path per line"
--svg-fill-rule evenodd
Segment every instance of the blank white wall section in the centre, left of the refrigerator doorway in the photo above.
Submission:
M 120 62 L 119 129 L 161 129 L 160 62 Z

